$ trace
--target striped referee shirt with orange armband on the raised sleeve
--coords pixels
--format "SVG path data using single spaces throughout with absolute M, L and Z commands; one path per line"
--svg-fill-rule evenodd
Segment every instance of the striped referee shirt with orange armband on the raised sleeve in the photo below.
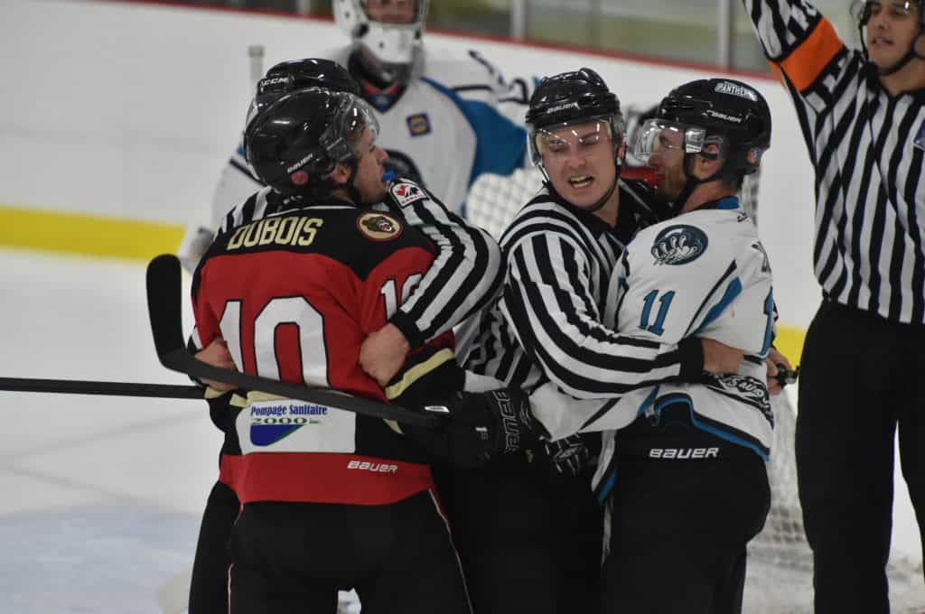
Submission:
M 925 323 L 925 90 L 892 97 L 804 0 L 744 0 L 796 103 L 816 172 L 813 262 L 825 295 Z

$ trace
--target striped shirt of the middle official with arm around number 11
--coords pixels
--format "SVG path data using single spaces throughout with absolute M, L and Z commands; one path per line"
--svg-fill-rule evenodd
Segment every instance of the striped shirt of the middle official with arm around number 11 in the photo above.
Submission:
M 621 180 L 620 194 L 615 230 L 549 190 L 524 205 L 501 237 L 504 289 L 481 315 L 467 369 L 527 390 L 551 381 L 575 398 L 699 375 L 699 343 L 679 350 L 601 324 L 623 245 L 654 221 L 639 183 Z

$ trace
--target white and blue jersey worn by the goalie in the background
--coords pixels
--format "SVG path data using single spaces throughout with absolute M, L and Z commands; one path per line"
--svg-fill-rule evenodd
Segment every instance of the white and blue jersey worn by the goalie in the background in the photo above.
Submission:
M 354 47 L 321 55 L 347 67 Z M 425 47 L 419 74 L 397 97 L 364 94 L 376 109 L 376 144 L 410 166 L 450 212 L 465 217 L 469 187 L 482 173 L 510 175 L 527 156 L 524 80 L 505 81 L 475 51 L 450 54 Z M 263 187 L 238 149 L 222 171 L 212 201 L 212 227 Z

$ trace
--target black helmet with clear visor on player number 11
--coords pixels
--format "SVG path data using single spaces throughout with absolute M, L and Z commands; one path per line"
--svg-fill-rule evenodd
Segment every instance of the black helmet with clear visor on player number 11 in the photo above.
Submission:
M 761 156 L 771 147 L 771 108 L 764 96 L 742 81 L 690 81 L 665 96 L 655 117 L 639 129 L 635 157 L 648 160 L 666 146 L 666 130 L 680 136 L 679 146 L 685 154 L 687 184 L 673 203 L 680 210 L 698 184 L 716 179 L 741 183 L 758 170 Z M 692 173 L 695 155 L 722 158 L 722 166 L 708 178 L 696 178 Z

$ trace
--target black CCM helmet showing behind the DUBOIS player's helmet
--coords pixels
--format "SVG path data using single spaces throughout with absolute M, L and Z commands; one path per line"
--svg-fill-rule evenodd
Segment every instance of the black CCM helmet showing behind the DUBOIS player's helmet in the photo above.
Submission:
M 296 90 L 315 87 L 360 95 L 359 84 L 351 77 L 347 68 L 343 68 L 337 62 L 321 57 L 280 62 L 267 70 L 263 79 L 257 81 L 257 90 L 247 109 L 244 126 L 248 126 L 258 113 L 282 96 Z

